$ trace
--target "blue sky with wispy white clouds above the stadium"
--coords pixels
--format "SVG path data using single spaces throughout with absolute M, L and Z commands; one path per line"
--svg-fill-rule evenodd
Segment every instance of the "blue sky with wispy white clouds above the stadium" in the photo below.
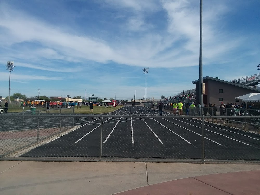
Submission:
M 199 0 L 2 0 L 0 96 L 160 98 L 199 78 Z M 257 73 L 260 1 L 203 1 L 203 76 Z

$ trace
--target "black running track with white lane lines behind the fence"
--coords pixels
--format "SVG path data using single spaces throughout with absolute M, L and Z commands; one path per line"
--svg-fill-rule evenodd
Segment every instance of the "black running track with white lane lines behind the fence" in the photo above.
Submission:
M 141 118 L 158 116 L 159 111 L 139 106 L 125 106 L 109 115 L 115 116 L 103 115 L 102 157 L 202 159 L 201 120 L 174 118 L 168 112 L 163 112 L 163 115 L 171 118 Z M 117 115 L 140 118 L 120 119 Z M 205 159 L 260 159 L 259 134 L 207 122 L 204 124 Z M 81 127 L 22 156 L 99 158 L 100 118 L 76 117 L 75 125 Z

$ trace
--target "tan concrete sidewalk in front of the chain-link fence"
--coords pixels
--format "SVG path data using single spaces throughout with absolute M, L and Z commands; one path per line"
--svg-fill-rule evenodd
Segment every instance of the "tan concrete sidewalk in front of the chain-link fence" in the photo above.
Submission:
M 151 186 L 145 188 L 156 187 L 152 184 L 160 187 L 167 183 L 158 183 L 174 182 L 171 180 L 181 178 L 187 178 L 184 182 L 186 183 L 192 179 L 188 177 L 249 170 L 260 170 L 260 165 L 0 161 L 0 194 L 111 195 L 147 185 Z M 250 175 L 256 177 L 253 173 Z M 246 180 L 244 177 L 243 180 L 236 177 L 238 181 Z M 259 182 L 259 172 L 258 178 L 255 180 Z M 209 178 L 206 181 L 209 181 Z M 202 182 L 200 181 L 200 183 Z M 254 183 L 251 182 L 251 184 Z M 158 186 L 156 188 L 158 189 Z M 247 190 L 254 189 L 251 185 Z M 196 189 L 194 191 L 196 192 Z M 131 191 L 124 193 L 129 192 Z M 195 192 L 194 194 L 196 194 Z M 169 192 L 168 194 L 174 193 Z M 190 194 L 192 193 L 190 192 Z M 244 194 L 248 193 L 244 191 Z

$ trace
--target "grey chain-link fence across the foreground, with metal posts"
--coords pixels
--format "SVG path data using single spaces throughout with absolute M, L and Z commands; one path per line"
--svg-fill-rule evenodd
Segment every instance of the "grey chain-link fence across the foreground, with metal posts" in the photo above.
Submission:
M 127 109 L 1 115 L 1 160 L 260 163 L 260 124 L 252 123 L 258 116 L 148 116 L 141 108 L 125 115 Z

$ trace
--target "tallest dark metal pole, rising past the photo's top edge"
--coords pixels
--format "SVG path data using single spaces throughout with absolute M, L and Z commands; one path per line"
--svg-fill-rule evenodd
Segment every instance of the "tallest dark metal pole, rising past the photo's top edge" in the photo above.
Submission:
M 202 77 L 202 0 L 200 0 L 200 28 L 199 28 L 199 102 L 203 103 L 203 77 Z

